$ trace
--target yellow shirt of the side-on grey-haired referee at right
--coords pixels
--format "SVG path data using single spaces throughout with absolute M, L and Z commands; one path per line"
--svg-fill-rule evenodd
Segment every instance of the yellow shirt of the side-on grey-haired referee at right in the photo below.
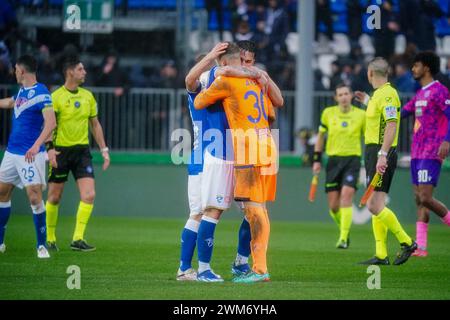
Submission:
M 392 147 L 397 146 L 400 132 L 400 108 L 397 90 L 389 82 L 375 90 L 366 111 L 366 145 L 383 144 L 386 123 L 396 121 L 397 133 Z

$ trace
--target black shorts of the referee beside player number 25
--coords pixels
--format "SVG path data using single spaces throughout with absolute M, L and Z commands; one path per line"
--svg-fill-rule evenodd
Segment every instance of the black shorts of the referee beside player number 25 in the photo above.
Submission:
M 89 146 L 55 147 L 55 149 L 60 152 L 56 156 L 58 168 L 49 166 L 48 182 L 66 182 L 70 172 L 72 172 L 75 180 L 94 178 L 94 167 L 92 166 Z

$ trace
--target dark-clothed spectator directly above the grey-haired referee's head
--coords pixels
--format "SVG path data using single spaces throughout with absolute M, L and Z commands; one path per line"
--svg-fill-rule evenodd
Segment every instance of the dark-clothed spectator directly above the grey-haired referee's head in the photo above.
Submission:
M 397 21 L 398 17 L 394 12 L 393 0 L 383 0 L 381 28 L 375 29 L 373 34 L 376 56 L 389 60 L 394 54 L 395 38 L 400 31 L 400 25 Z

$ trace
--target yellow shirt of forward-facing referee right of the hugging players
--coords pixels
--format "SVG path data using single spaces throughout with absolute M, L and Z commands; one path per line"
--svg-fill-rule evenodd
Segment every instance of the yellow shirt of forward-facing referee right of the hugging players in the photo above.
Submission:
M 365 112 L 355 106 L 347 113 L 343 113 L 339 106 L 326 108 L 322 112 L 319 131 L 328 133 L 327 155 L 360 157 L 365 120 Z

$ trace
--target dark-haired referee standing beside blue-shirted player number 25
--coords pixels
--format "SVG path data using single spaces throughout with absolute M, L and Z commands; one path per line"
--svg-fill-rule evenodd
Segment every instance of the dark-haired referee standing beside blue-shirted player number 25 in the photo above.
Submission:
M 103 129 L 97 118 L 97 102 L 92 93 L 80 85 L 84 83 L 86 70 L 78 58 L 65 61 L 65 83 L 52 93 L 57 128 L 53 140 L 46 143 L 50 164 L 49 189 L 46 204 L 47 241 L 49 249 L 56 246 L 58 208 L 64 184 L 72 172 L 80 192 L 75 232 L 70 247 L 76 251 L 93 251 L 94 246 L 84 239 L 86 225 L 94 207 L 95 183 L 92 156 L 89 149 L 89 128 L 103 156 L 103 170 L 109 166 L 109 150 Z M 56 162 L 55 162 L 56 158 Z

